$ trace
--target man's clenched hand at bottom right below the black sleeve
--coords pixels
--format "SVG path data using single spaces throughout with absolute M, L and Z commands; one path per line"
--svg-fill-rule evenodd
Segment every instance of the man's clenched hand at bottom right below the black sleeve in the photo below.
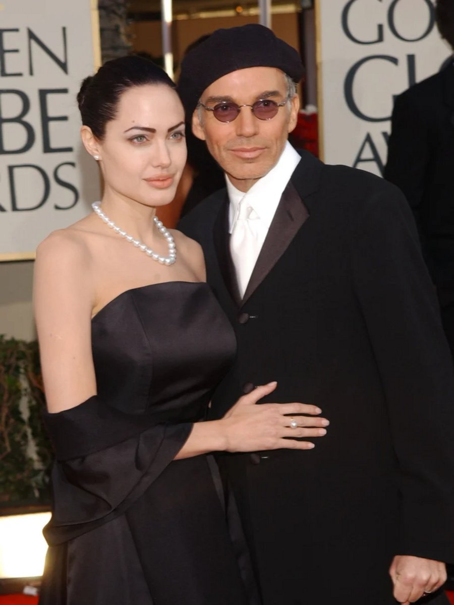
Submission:
M 415 603 L 424 593 L 438 590 L 446 582 L 446 565 L 441 561 L 396 555 L 389 575 L 394 584 L 394 598 L 403 605 Z

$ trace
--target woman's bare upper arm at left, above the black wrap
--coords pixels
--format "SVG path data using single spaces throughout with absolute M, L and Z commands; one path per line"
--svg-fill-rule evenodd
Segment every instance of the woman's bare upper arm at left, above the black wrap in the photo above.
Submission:
M 33 305 L 50 412 L 67 410 L 96 394 L 91 283 L 90 254 L 73 234 L 57 231 L 39 245 Z

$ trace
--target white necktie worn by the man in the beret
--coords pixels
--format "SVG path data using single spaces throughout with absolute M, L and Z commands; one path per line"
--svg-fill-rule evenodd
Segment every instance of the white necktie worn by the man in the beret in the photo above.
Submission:
M 230 236 L 230 252 L 237 273 L 238 287 L 243 298 L 257 261 L 260 248 L 258 241 L 258 223 L 260 217 L 254 208 L 248 205 L 245 197 L 240 200 L 237 215 Z

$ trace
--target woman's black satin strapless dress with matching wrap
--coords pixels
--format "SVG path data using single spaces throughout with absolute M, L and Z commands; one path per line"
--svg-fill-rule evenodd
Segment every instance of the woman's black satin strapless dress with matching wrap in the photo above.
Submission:
M 211 290 L 123 292 L 92 342 L 97 396 L 46 414 L 57 461 L 40 605 L 258 605 L 212 457 L 173 460 L 235 352 Z

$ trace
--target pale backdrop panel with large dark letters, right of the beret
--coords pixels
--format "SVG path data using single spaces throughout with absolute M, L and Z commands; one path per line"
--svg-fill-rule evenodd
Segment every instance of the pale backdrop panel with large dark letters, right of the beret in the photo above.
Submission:
M 321 157 L 381 175 L 393 97 L 450 55 L 433 0 L 316 0 Z

